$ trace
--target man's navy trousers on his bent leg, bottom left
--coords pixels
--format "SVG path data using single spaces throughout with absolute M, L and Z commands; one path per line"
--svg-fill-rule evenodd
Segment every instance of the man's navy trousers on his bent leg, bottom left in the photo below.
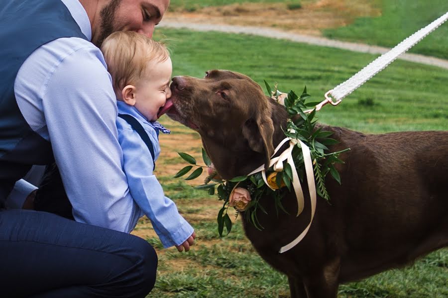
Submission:
M 157 255 L 122 232 L 30 210 L 0 210 L 1 297 L 145 297 Z

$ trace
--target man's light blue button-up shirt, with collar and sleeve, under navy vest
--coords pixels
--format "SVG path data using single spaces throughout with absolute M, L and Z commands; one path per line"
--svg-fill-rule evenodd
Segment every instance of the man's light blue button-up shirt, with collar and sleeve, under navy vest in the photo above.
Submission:
M 91 40 L 81 3 L 62 2 Z M 123 172 L 116 99 L 100 49 L 76 37 L 44 44 L 19 69 L 14 92 L 30 127 L 51 141 L 76 221 L 130 232 L 141 210 Z

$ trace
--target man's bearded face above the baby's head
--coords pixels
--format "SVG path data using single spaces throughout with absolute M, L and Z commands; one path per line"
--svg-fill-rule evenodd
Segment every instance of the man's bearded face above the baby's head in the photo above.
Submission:
M 100 10 L 100 28 L 92 42 L 100 47 L 111 33 L 123 30 L 152 37 L 169 4 L 170 0 L 110 0 Z

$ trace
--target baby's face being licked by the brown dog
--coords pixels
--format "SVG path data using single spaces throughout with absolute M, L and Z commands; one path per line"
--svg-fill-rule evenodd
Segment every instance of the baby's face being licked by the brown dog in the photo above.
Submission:
M 148 120 L 157 120 L 157 112 L 171 97 L 171 59 L 150 62 L 135 85 L 135 108 Z

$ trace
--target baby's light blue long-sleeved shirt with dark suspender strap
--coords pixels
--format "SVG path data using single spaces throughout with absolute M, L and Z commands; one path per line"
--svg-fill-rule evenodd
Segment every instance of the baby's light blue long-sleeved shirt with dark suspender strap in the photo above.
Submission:
M 154 159 L 160 154 L 159 139 L 151 122 L 138 110 L 117 101 L 118 113 L 137 119 L 148 134 L 154 148 Z M 124 173 L 129 190 L 141 211 L 148 216 L 164 247 L 180 245 L 193 233 L 191 225 L 179 214 L 176 205 L 163 194 L 153 174 L 154 163 L 140 135 L 122 118 L 116 119 L 118 140 L 123 150 Z

